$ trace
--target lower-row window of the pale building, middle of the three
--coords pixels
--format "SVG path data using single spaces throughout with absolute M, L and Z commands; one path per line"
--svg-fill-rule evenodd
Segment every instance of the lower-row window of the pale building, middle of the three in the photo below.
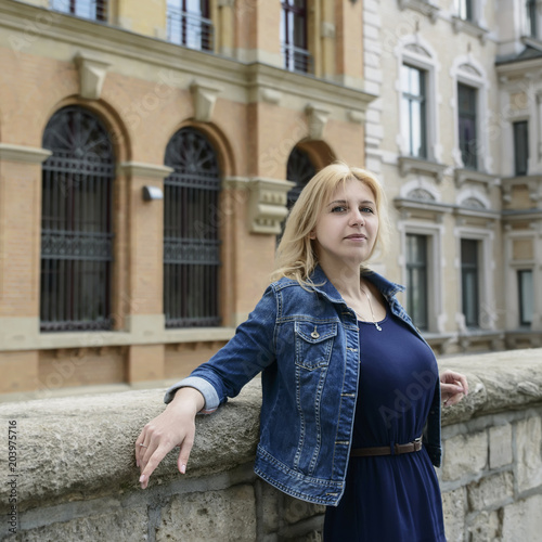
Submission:
M 476 240 L 461 240 L 461 286 L 462 311 L 467 327 L 479 327 L 479 242 Z

